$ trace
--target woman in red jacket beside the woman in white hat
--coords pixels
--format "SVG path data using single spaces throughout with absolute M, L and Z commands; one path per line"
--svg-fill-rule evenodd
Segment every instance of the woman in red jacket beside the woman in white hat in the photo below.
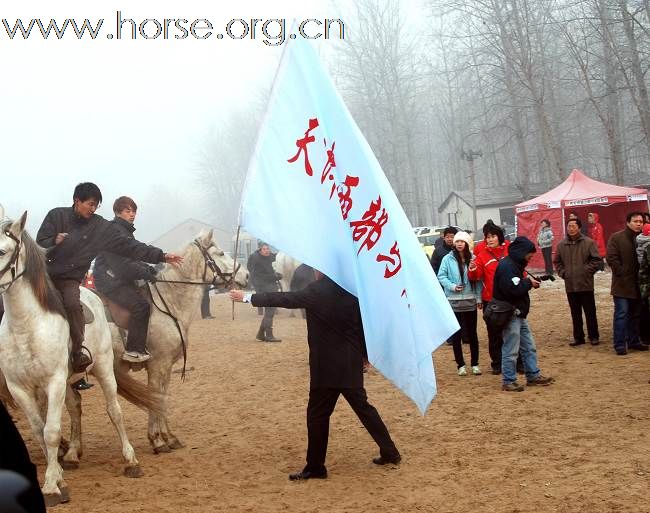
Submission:
M 483 282 L 483 291 L 481 299 L 483 306 L 492 299 L 492 290 L 494 284 L 494 273 L 497 270 L 499 261 L 508 256 L 508 246 L 510 241 L 505 240 L 503 230 L 493 223 L 488 223 L 483 227 L 485 233 L 485 246 L 476 255 L 476 258 L 469 266 L 469 279 L 472 281 L 481 280 Z M 479 305 L 479 308 L 481 305 Z M 500 332 L 490 329 L 487 325 L 488 332 L 488 350 L 492 360 L 492 374 L 501 374 L 501 346 L 503 337 Z

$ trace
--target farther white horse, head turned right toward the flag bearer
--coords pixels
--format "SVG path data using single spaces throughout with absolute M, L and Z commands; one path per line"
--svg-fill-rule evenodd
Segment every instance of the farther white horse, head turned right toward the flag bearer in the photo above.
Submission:
M 144 364 L 121 360 L 124 342 L 117 326 L 112 325 L 113 349 L 121 369 L 138 369 L 143 365 L 147 369 L 149 387 L 162 394 L 165 401 L 169 397 L 172 365 L 183 357 L 183 368 L 185 366 L 189 328 L 199 312 L 205 285 L 227 285 L 234 281 L 244 287 L 248 279 L 247 272 L 239 264 L 233 271 L 233 258 L 217 247 L 212 235 L 212 230 L 201 232 L 181 251 L 183 262 L 166 265 L 157 282 L 150 285 L 153 301 L 147 334 L 150 360 Z M 126 319 L 120 324 L 124 328 Z M 156 454 L 183 447 L 169 429 L 166 409 L 162 412 L 149 410 L 148 437 Z

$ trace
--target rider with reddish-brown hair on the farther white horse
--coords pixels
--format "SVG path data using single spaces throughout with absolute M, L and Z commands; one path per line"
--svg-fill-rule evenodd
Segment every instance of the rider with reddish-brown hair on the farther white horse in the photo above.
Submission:
M 134 238 L 135 226 L 133 223 L 137 211 L 138 206 L 128 196 L 120 196 L 113 203 L 115 219 L 111 223 L 129 239 Z M 133 363 L 146 362 L 151 358 L 146 349 L 151 305 L 140 294 L 134 282 L 136 280 L 155 280 L 155 269 L 144 262 L 104 251 L 95 260 L 93 276 L 95 277 L 95 288 L 99 292 L 131 313 L 126 351 L 122 353 L 122 359 Z

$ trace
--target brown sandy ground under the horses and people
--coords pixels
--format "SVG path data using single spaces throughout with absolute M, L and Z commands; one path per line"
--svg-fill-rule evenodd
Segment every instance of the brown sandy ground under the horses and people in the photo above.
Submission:
M 650 353 L 614 355 L 608 276 L 599 274 L 597 283 L 598 347 L 567 345 L 571 322 L 561 281 L 532 294 L 540 368 L 557 379 L 553 386 L 505 393 L 498 376 L 458 377 L 445 345 L 434 354 L 439 394 L 423 417 L 372 371 L 368 395 L 402 452 L 402 464 L 371 463 L 376 447 L 341 399 L 332 417 L 330 476 L 301 483 L 289 482 L 287 474 L 302 468 L 306 448 L 304 321 L 282 311 L 275 333 L 283 342 L 256 342 L 255 309 L 238 304 L 233 322 L 230 303 L 214 297 L 217 318 L 191 329 L 193 370 L 185 383 L 178 374 L 172 378 L 172 429 L 186 447 L 152 454 L 145 415 L 125 405 L 145 476 L 123 477 L 101 393 L 98 387 L 84 392 L 82 464 L 66 473 L 71 502 L 52 510 L 650 511 Z M 43 456 L 16 415 L 42 472 Z

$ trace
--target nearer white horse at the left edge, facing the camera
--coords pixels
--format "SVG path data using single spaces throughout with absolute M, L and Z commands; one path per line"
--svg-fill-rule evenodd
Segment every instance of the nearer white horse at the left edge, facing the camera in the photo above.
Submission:
M 70 412 L 72 431 L 63 461 L 64 466 L 73 467 L 78 465 L 82 452 L 81 406 L 79 392 L 66 383 L 71 342 L 63 303 L 47 275 L 42 249 L 24 230 L 26 218 L 27 212 L 18 221 L 0 222 L 0 293 L 5 306 L 0 323 L 0 371 L 45 453 L 47 468 L 42 491 L 46 504 L 52 506 L 69 500 L 63 470 L 57 461 L 63 406 Z M 158 404 L 160 409 L 162 403 L 126 372 L 115 369 L 114 373 L 111 334 L 103 305 L 83 288 L 81 298 L 94 315 L 94 321 L 86 326 L 84 342 L 94 360 L 88 371 L 104 392 L 108 415 L 122 443 L 125 474 L 138 477 L 142 472 L 124 428 L 116 396 L 118 386 L 129 400 L 143 408 L 153 409 Z M 144 399 L 136 401 L 136 397 Z

